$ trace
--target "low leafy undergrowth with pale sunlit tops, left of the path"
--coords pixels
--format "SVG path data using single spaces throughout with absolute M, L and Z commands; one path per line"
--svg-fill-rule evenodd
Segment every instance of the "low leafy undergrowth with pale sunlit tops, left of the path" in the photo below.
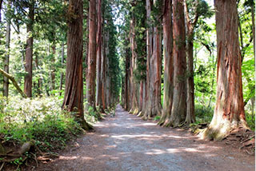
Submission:
M 82 129 L 61 105 L 62 101 L 56 97 L 10 97 L 8 101 L 0 97 L 0 134 L 6 141 L 34 140 L 43 151 L 62 148 Z

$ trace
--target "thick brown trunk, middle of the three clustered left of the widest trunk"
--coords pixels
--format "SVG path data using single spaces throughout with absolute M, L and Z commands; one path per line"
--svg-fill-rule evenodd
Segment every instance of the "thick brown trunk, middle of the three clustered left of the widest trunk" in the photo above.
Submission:
M 174 97 L 167 125 L 177 126 L 186 119 L 186 30 L 183 1 L 173 2 Z

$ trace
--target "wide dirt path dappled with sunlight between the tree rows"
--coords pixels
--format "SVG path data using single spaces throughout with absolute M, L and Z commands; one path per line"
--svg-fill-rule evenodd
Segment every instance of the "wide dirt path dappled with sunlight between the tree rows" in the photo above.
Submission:
M 128 114 L 118 105 L 107 117 L 40 170 L 252 171 L 255 158 L 216 142 Z

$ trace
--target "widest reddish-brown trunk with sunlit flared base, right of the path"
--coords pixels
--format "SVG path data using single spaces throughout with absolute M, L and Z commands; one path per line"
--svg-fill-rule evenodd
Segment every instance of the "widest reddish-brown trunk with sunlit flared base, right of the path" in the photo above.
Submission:
M 236 1 L 214 2 L 217 30 L 217 101 L 203 137 L 221 140 L 232 128 L 247 128 L 242 97 L 241 51 Z M 232 40 L 230 42 L 230 40 Z

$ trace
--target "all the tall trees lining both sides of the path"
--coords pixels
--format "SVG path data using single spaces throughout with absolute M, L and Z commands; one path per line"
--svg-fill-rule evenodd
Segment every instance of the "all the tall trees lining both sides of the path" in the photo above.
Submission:
M 54 97 L 83 129 L 118 102 L 161 126 L 209 122 L 209 139 L 254 129 L 252 0 L 1 0 L 0 11 L 0 128 L 7 110 L 25 113 L 16 99 Z

